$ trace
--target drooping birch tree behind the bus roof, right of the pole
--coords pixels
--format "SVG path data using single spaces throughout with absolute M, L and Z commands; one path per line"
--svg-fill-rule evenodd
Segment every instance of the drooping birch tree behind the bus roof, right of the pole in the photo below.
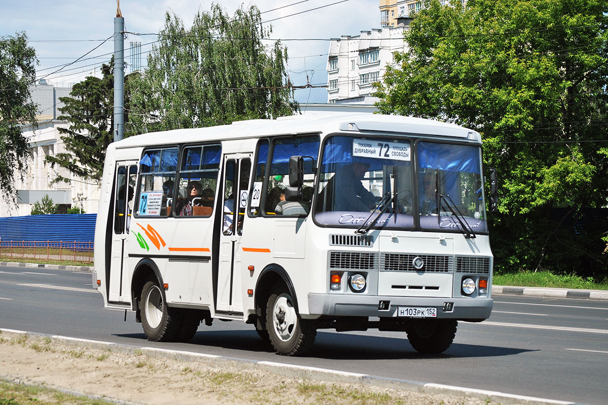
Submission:
M 263 43 L 270 32 L 255 6 L 229 18 L 212 4 L 189 30 L 167 13 L 148 69 L 132 83 L 125 134 L 291 115 L 297 103 L 286 83 L 287 52 Z

